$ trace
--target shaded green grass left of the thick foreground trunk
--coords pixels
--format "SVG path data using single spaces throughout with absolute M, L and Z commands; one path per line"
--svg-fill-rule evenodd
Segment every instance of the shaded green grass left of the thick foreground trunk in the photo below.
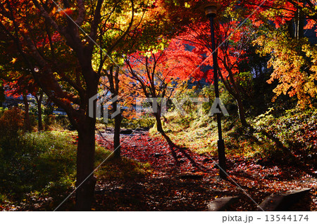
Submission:
M 16 144 L 1 145 L 0 194 L 10 195 L 5 201 L 21 202 L 28 194 L 65 195 L 75 183 L 75 135 L 70 131 L 25 133 L 12 139 Z

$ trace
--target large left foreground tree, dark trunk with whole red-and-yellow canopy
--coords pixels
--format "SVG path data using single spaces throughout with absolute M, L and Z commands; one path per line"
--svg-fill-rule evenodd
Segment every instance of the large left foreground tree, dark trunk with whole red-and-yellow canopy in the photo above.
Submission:
M 77 0 L 56 5 L 7 0 L 0 4 L 1 48 L 16 51 L 15 58 L 23 61 L 54 104 L 66 111 L 78 132 L 77 210 L 90 209 L 96 183 L 92 175 L 96 118 L 89 117 L 89 98 L 97 94 L 104 65 L 119 56 L 118 49 L 129 47 L 124 40 L 133 36 L 130 31 L 140 22 L 133 19 L 133 12 L 152 10 L 149 1 L 137 1 L 137 7 L 135 2 Z

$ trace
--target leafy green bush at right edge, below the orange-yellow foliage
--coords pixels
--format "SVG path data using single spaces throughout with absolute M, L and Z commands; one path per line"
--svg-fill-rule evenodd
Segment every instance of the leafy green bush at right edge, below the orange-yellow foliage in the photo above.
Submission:
M 282 114 L 274 112 L 273 108 L 261 114 L 254 120 L 256 138 L 261 142 L 271 142 L 273 147 L 263 149 L 269 157 L 282 158 L 280 145 L 298 159 L 309 164 L 316 159 L 317 110 L 301 110 L 294 108 Z M 271 137 L 271 138 L 269 138 Z M 272 142 L 273 140 L 273 142 Z

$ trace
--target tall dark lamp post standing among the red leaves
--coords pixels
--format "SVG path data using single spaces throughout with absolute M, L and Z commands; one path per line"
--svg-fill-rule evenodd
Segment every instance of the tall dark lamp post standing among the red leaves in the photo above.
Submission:
M 219 98 L 219 86 L 218 86 L 218 62 L 217 62 L 217 51 L 215 44 L 215 32 L 213 28 L 214 18 L 216 18 L 217 10 L 220 7 L 219 4 L 205 4 L 201 6 L 201 9 L 204 9 L 207 18 L 210 21 L 210 30 L 211 30 L 211 48 L 213 51 L 213 85 L 215 86 L 215 95 L 216 98 Z M 220 110 L 221 111 L 221 110 Z M 219 176 L 220 178 L 226 179 L 226 167 L 225 167 L 225 144 L 223 142 L 223 134 L 221 130 L 221 114 L 217 113 L 217 124 L 218 124 L 218 158 L 219 158 Z

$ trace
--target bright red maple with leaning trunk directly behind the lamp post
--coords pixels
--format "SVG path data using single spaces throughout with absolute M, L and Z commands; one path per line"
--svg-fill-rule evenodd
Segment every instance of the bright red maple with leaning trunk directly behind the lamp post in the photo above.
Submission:
M 244 26 L 240 29 L 236 29 L 239 21 L 232 20 L 230 15 L 219 15 L 216 23 L 216 46 L 217 58 L 218 58 L 218 74 L 222 79 L 225 88 L 230 95 L 237 101 L 238 112 L 240 115 L 240 121 L 242 125 L 247 126 L 245 119 L 245 112 L 242 103 L 242 93 L 245 92 L 244 88 L 240 85 L 239 65 L 242 61 L 247 60 L 245 51 L 247 45 L 250 44 L 250 31 L 249 27 Z M 243 30 L 243 31 L 242 31 Z M 213 65 L 211 54 L 211 37 L 209 23 L 200 20 L 195 21 L 186 26 L 185 32 L 178 35 L 178 39 L 187 41 L 191 46 L 194 46 L 194 52 L 199 55 L 204 55 L 203 65 Z M 212 70 L 205 72 L 200 78 L 204 78 L 210 83 L 213 82 Z

